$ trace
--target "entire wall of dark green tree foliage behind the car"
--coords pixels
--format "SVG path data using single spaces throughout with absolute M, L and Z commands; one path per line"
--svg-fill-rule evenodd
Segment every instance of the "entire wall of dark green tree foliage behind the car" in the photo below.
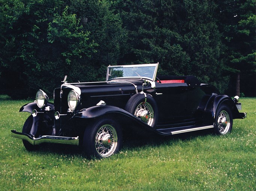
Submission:
M 1 92 L 49 95 L 68 81 L 105 79 L 106 66 L 160 63 L 253 95 L 255 0 L 0 0 Z M 256 81 L 256 80 L 255 80 Z M 256 91 L 256 88 L 255 88 Z

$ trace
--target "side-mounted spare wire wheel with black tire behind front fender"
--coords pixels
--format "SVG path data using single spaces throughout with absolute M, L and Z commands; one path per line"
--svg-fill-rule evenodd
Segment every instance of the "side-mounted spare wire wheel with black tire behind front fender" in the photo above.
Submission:
M 158 120 L 158 109 L 154 98 L 150 94 L 135 94 L 126 103 L 125 110 L 132 113 L 143 122 L 155 128 Z

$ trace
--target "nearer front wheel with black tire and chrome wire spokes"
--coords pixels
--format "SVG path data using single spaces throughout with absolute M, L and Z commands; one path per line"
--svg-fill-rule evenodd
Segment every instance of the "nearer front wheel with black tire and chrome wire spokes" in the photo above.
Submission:
M 120 125 L 112 119 L 98 119 L 84 131 L 83 150 L 87 157 L 109 157 L 117 153 L 123 143 Z

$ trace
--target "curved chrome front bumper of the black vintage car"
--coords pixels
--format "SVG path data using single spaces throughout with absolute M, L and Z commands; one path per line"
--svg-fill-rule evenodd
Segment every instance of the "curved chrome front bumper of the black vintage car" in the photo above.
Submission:
M 11 130 L 10 136 L 14 138 L 26 140 L 32 145 L 39 145 L 41 143 L 59 143 L 59 144 L 79 145 L 79 137 L 59 137 L 59 136 L 43 135 L 42 137 L 34 138 L 28 134 L 17 132 L 16 130 Z

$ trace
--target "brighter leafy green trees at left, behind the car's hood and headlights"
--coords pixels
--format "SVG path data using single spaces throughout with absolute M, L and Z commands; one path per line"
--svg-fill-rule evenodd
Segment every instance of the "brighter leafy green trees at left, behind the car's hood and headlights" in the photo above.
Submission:
M 104 1 L 1 0 L 0 17 L 1 82 L 13 98 L 39 88 L 52 95 L 64 75 L 73 82 L 105 76 L 125 41 Z

